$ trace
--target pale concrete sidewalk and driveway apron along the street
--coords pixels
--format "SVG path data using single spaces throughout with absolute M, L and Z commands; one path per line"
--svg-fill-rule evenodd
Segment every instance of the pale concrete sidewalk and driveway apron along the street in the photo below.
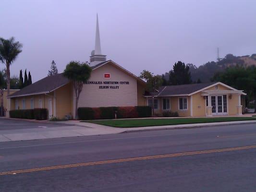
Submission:
M 183 125 L 165 125 L 139 128 L 114 128 L 94 123 L 80 122 L 76 120 L 58 121 L 56 123 L 66 124 L 61 127 L 46 127 L 46 128 L 30 128 L 19 130 L 2 130 L 0 131 L 0 142 L 9 141 L 25 141 L 37 139 L 50 138 L 64 138 L 64 137 L 79 137 L 88 135 L 103 135 L 127 132 L 142 132 L 142 131 L 156 131 L 156 130 L 173 130 L 173 129 L 190 129 L 201 127 L 225 126 L 225 125 L 241 125 L 241 124 L 255 124 L 255 120 L 248 121 L 232 121 L 232 122 L 214 122 L 214 123 L 197 123 L 197 124 L 183 124 Z

